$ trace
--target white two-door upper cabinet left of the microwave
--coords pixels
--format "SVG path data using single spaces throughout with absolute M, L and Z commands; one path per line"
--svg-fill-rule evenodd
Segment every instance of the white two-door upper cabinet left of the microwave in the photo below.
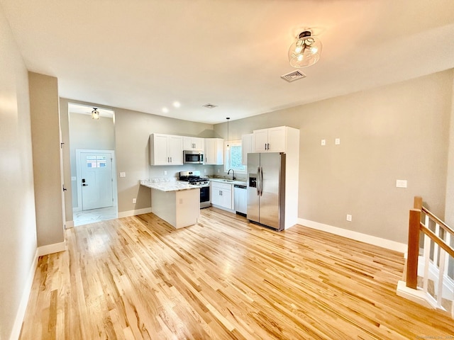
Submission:
M 160 133 L 150 135 L 150 164 L 183 164 L 183 137 Z

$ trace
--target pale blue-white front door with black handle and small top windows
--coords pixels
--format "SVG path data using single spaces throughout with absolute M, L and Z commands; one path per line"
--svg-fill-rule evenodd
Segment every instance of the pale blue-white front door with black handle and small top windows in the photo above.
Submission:
M 110 152 L 80 152 L 82 210 L 114 205 Z

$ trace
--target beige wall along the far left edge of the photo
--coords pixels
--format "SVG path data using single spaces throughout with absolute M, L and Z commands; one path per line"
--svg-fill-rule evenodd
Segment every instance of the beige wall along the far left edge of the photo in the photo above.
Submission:
M 1 6 L 0 51 L 0 339 L 9 339 L 35 269 L 36 224 L 28 73 Z

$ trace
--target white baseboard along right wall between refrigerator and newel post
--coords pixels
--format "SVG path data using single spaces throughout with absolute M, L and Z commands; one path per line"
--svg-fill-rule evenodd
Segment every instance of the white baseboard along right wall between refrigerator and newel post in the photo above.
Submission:
M 353 230 L 333 227 L 332 225 L 324 225 L 323 223 L 304 220 L 303 218 L 298 218 L 298 224 L 312 229 L 321 230 L 323 232 L 329 232 L 331 234 L 347 237 L 349 239 L 355 239 L 356 241 L 365 242 L 367 244 L 373 244 L 374 246 L 381 246 L 382 248 L 399 251 L 401 253 L 407 251 L 406 244 L 391 241 L 390 239 L 382 239 L 381 237 L 375 237 L 372 235 L 362 234 L 360 232 L 354 232 Z

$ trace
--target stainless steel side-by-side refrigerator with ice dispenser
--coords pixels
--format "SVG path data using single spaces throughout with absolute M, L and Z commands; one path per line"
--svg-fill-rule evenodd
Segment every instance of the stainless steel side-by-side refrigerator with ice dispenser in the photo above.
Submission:
M 284 229 L 285 154 L 248 154 L 248 220 Z

